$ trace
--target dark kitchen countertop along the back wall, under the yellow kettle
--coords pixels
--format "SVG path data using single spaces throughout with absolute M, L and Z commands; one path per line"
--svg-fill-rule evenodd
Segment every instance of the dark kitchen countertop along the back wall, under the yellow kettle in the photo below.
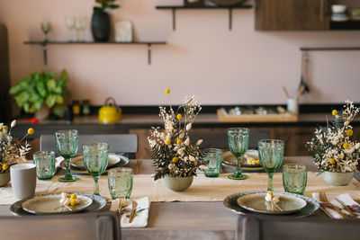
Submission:
M 329 115 L 328 119 L 331 120 Z M 298 121 L 292 122 L 221 122 L 215 113 L 201 113 L 196 117 L 193 128 L 234 128 L 234 127 L 316 127 L 325 125 L 327 122 L 324 113 L 300 114 Z M 18 120 L 16 128 L 13 129 L 15 138 L 22 138 L 23 132 L 31 126 L 35 129 L 32 138 L 39 138 L 40 134 L 53 133 L 56 129 L 78 129 L 80 133 L 88 134 L 120 134 L 129 133 L 130 129 L 150 129 L 161 125 L 157 114 L 124 114 L 122 120 L 115 124 L 99 124 L 97 115 L 77 116 L 73 121 L 67 123 L 65 120 L 40 120 L 38 124 L 26 123 Z M 360 118 L 352 122 L 353 126 L 360 125 Z

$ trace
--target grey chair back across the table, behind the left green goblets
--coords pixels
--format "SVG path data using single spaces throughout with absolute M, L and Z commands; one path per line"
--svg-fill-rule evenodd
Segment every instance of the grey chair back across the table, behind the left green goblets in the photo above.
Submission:
M 78 152 L 82 153 L 82 145 L 92 142 L 109 144 L 109 152 L 135 158 L 138 152 L 138 136 L 136 134 L 80 134 Z M 40 151 L 57 152 L 55 136 L 40 136 Z

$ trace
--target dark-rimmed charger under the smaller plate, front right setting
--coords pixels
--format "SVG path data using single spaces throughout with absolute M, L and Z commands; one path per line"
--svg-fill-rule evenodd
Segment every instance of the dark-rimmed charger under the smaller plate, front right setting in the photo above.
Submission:
M 225 208 L 227 208 L 237 214 L 268 215 L 267 213 L 256 213 L 256 212 L 249 211 L 247 209 L 244 209 L 244 208 L 238 206 L 237 201 L 238 201 L 239 197 L 246 195 L 248 193 L 255 193 L 255 192 L 266 192 L 266 191 L 248 191 L 248 192 L 239 192 L 239 193 L 231 194 L 223 200 L 223 204 L 224 204 Z M 273 191 L 273 192 L 275 194 L 277 194 L 279 192 L 281 193 L 281 191 Z M 300 209 L 299 211 L 296 211 L 293 213 L 287 213 L 286 215 L 283 215 L 283 216 L 292 216 L 294 218 L 303 218 L 303 217 L 311 216 L 312 214 L 314 214 L 316 211 L 318 211 L 320 209 L 320 204 L 316 200 L 313 200 L 306 196 L 294 194 L 294 193 L 288 193 L 288 192 L 285 192 L 285 193 L 295 195 L 295 196 L 301 198 L 302 200 L 305 200 L 307 204 L 306 204 L 305 208 Z

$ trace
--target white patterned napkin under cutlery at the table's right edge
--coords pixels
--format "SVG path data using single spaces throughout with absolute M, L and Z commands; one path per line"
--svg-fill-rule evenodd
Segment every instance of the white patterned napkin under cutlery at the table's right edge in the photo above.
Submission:
M 320 193 L 313 192 L 312 198 L 320 202 Z M 335 206 L 337 206 L 339 209 L 341 209 L 341 211 L 344 212 L 347 216 L 351 216 L 350 213 L 347 212 L 347 210 L 341 205 L 341 203 L 337 199 L 343 201 L 349 209 L 352 209 L 353 212 L 356 213 L 357 218 L 360 218 L 360 205 L 355 200 L 353 200 L 348 193 L 340 194 L 336 196 L 333 200 L 330 200 L 330 202 Z M 338 211 L 330 208 L 325 203 L 320 202 L 320 207 L 330 218 L 337 218 L 337 219 L 343 218 L 338 213 Z

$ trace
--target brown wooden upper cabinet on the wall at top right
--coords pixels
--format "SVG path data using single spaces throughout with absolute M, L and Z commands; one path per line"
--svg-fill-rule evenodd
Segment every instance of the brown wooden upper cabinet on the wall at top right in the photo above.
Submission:
M 256 0 L 256 30 L 329 30 L 329 0 Z

